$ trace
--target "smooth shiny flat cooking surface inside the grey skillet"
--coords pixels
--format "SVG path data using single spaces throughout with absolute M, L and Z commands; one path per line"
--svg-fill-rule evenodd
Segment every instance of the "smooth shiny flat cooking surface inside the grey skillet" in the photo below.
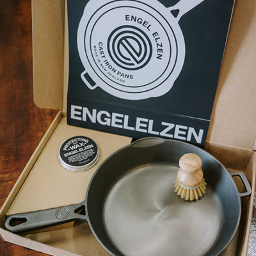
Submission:
M 208 184 L 200 200 L 182 200 L 173 189 L 177 171 L 164 164 L 145 166 L 111 189 L 104 225 L 125 256 L 200 256 L 216 242 L 223 219 L 218 198 Z

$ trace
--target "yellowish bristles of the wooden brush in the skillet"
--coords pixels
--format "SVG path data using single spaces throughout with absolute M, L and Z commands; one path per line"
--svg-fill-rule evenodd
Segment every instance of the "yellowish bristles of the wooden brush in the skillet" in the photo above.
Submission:
M 180 196 L 184 200 L 198 200 L 200 197 L 202 197 L 205 194 L 206 190 L 206 182 L 205 179 L 202 181 L 202 184 L 195 189 L 186 189 L 180 186 L 178 179 L 175 180 L 175 193 Z

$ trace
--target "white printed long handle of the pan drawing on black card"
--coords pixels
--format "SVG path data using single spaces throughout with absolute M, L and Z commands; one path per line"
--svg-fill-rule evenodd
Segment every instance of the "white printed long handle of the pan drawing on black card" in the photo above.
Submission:
M 180 18 L 198 4 L 204 2 L 204 0 L 180 0 L 177 4 L 172 7 L 169 7 L 168 10 L 172 15 L 179 21 Z

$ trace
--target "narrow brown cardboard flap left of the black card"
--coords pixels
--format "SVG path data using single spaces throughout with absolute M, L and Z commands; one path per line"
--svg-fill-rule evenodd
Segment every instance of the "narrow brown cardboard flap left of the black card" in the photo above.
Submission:
M 33 0 L 34 101 L 63 109 L 65 1 Z

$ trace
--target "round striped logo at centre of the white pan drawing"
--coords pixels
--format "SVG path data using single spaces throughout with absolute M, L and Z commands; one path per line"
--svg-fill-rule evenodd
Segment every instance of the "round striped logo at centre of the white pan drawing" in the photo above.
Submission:
M 147 34 L 134 26 L 120 26 L 108 38 L 111 60 L 125 70 L 145 67 L 152 57 L 152 44 Z

